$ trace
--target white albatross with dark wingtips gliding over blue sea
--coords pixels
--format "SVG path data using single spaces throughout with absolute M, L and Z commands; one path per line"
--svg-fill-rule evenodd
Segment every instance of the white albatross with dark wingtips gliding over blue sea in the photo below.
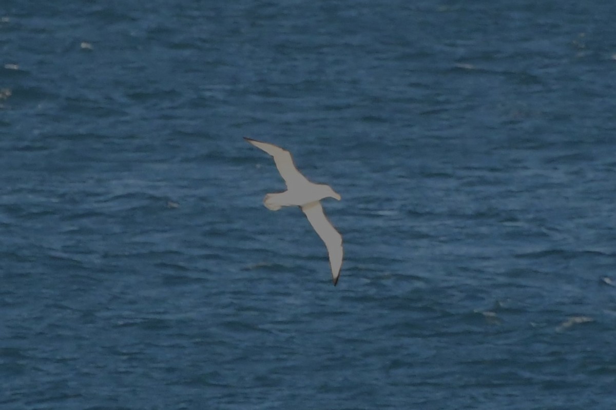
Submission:
M 342 267 L 342 235 L 336 231 L 336 228 L 325 216 L 321 200 L 324 198 L 340 200 L 340 195 L 329 185 L 310 182 L 295 167 L 291 152 L 286 151 L 286 149 L 250 138 L 244 139 L 274 157 L 276 168 L 278 168 L 282 179 L 285 180 L 286 191 L 265 195 L 263 199 L 265 207 L 272 211 L 277 211 L 282 207 L 296 206 L 301 208 L 309 223 L 317 231 L 318 236 L 325 242 L 325 247 L 330 255 L 331 277 L 334 286 L 336 286 Z

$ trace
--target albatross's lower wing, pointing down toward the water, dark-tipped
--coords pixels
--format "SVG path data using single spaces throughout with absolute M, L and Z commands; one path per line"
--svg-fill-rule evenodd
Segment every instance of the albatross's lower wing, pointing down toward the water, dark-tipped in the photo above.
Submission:
M 327 219 L 319 201 L 310 202 L 301 208 L 306 214 L 310 225 L 314 227 L 314 230 L 317 231 L 317 234 L 325 242 L 327 252 L 330 254 L 331 277 L 333 278 L 334 286 L 336 286 L 344 254 L 342 250 L 342 235 L 336 231 L 336 228 Z

